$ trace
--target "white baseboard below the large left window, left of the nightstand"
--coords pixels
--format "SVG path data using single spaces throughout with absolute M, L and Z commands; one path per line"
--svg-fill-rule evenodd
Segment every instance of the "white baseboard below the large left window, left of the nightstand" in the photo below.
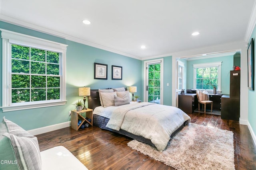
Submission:
M 70 121 L 66 121 L 63 123 L 58 123 L 58 124 L 50 125 L 50 126 L 46 126 L 46 127 L 40 127 L 37 129 L 32 129 L 32 130 L 29 130 L 28 132 L 31 133 L 32 135 L 39 135 L 42 133 L 55 131 L 55 130 L 62 129 L 65 127 L 70 127 Z

